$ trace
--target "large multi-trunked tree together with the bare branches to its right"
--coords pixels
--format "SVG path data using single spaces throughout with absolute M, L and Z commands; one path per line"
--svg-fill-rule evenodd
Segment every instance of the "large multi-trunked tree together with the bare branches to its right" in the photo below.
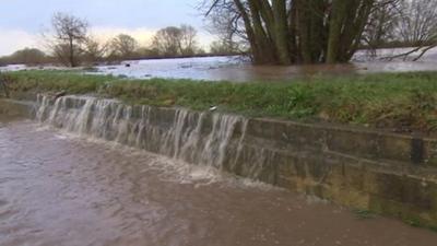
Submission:
M 204 0 L 222 43 L 258 65 L 347 62 L 359 48 L 435 46 L 436 0 Z

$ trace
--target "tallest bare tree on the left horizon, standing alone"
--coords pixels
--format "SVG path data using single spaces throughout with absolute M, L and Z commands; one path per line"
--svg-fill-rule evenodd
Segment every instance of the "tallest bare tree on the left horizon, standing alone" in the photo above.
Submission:
M 55 13 L 51 19 L 54 35 L 48 44 L 54 55 L 62 63 L 76 67 L 86 42 L 88 23 L 67 13 Z

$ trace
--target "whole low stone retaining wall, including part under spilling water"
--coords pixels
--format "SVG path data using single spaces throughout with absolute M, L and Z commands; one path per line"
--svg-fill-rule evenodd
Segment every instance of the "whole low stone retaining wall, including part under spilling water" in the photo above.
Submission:
M 80 96 L 40 96 L 35 112 L 58 128 L 437 227 L 437 139 Z

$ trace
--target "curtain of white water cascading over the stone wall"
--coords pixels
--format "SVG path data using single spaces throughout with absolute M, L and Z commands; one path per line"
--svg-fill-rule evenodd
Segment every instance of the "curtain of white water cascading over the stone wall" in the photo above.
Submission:
M 38 95 L 36 119 L 80 136 L 227 171 L 237 166 L 247 126 L 239 116 L 128 106 L 88 96 Z

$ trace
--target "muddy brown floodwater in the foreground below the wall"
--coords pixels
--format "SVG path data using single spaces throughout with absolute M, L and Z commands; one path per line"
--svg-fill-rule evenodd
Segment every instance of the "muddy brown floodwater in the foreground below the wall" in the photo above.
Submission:
M 0 118 L 2 246 L 436 244 L 395 220 Z

